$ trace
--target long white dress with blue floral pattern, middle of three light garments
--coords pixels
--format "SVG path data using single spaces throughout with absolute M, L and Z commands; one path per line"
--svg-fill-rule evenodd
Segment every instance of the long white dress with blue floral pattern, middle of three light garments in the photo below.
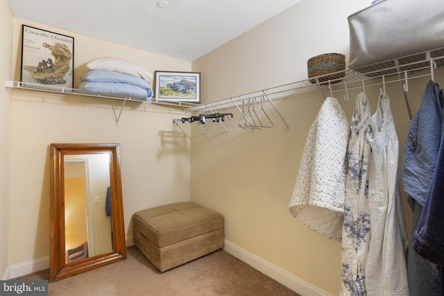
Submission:
M 365 296 L 366 261 L 370 242 L 368 164 L 373 130 L 366 94 L 356 98 L 348 143 L 348 175 L 345 184 L 345 212 L 342 231 L 341 293 Z

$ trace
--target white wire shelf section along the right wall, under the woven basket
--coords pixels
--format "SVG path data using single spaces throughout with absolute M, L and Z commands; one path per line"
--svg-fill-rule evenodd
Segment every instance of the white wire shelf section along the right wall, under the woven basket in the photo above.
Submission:
M 223 110 L 234 107 L 234 103 L 241 104 L 242 101 L 247 100 L 248 98 L 260 98 L 264 92 L 268 94 L 268 97 L 271 101 L 275 101 L 281 98 L 287 98 L 289 96 L 294 96 L 297 94 L 304 94 L 307 92 L 315 92 L 319 91 L 319 87 L 323 87 L 324 89 L 328 87 L 328 82 L 325 79 L 326 77 L 331 78 L 331 82 L 336 88 L 339 85 L 352 85 L 357 82 L 361 83 L 362 81 L 373 80 L 377 78 L 382 78 L 382 76 L 388 77 L 395 74 L 398 74 L 398 71 L 409 71 L 409 74 L 413 71 L 420 71 L 424 69 L 429 69 L 430 60 L 429 56 L 433 60 L 434 63 L 438 64 L 438 66 L 444 65 L 444 48 L 436 49 L 432 51 L 432 54 L 427 56 L 429 51 L 424 51 L 422 53 L 415 53 L 413 55 L 407 55 L 401 58 L 400 60 L 399 70 L 397 70 L 396 65 L 394 64 L 394 60 L 387 60 L 375 64 L 370 64 L 366 67 L 360 67 L 359 69 L 347 69 L 343 71 L 339 71 L 336 73 L 330 73 L 325 76 L 319 76 L 318 81 L 315 83 L 311 83 L 314 78 L 301 80 L 298 82 L 292 82 L 285 85 L 280 85 L 278 87 L 271 87 L 268 89 L 261 89 L 257 92 L 250 92 L 248 94 L 243 94 L 240 96 L 232 96 L 231 98 L 225 98 L 220 101 L 214 101 L 212 103 L 205 103 L 202 105 L 196 105 L 196 107 L 189 107 L 187 112 L 200 111 L 205 112 L 208 110 Z M 434 57 L 433 57 L 433 56 Z M 321 79 L 323 78 L 323 79 Z

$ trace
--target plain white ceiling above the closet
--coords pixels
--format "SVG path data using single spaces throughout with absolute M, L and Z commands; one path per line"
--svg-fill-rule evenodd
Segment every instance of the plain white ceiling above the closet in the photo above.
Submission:
M 17 18 L 192 61 L 300 1 L 9 0 L 9 3 Z

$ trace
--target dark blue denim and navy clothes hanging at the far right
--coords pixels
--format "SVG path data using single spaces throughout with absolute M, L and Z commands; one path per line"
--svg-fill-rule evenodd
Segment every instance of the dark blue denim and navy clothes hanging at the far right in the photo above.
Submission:
M 443 91 L 431 80 L 402 155 L 402 184 L 413 211 L 407 264 L 411 296 L 444 295 L 443 107 Z

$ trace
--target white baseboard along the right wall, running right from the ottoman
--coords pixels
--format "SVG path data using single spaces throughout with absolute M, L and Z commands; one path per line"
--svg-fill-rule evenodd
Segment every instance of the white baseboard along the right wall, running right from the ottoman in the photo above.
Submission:
M 230 243 L 225 240 L 225 245 L 223 247 L 225 252 L 232 254 L 237 259 L 244 261 L 255 270 L 259 270 L 267 277 L 271 277 L 278 283 L 286 286 L 287 288 L 295 291 L 302 296 L 328 296 L 329 294 L 319 290 L 318 288 L 307 284 L 305 281 L 290 275 L 288 272 L 275 267 L 274 265 L 260 259 L 259 257 L 246 252 L 246 250 L 241 249 L 237 245 Z

